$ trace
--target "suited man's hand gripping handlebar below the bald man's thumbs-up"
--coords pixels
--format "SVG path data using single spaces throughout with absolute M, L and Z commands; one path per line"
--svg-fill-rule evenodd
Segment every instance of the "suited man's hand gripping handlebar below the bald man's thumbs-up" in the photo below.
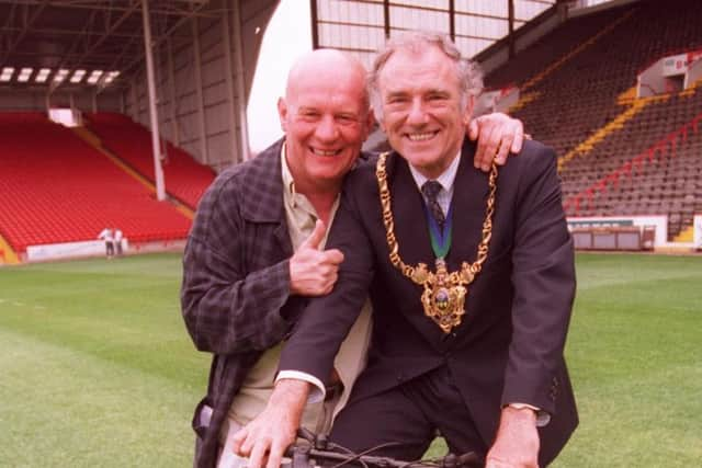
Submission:
M 285 449 L 295 442 L 309 384 L 280 380 L 265 409 L 253 421 L 234 434 L 234 452 L 248 457 L 248 468 L 280 468 Z

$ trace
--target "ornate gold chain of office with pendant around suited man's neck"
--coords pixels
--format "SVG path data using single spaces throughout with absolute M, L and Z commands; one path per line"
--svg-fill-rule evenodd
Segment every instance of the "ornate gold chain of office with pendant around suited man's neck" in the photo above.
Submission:
M 489 174 L 489 195 L 485 220 L 483 221 L 483 238 L 478 244 L 475 262 L 461 264 L 461 270 L 451 272 L 446 270 L 444 259 L 437 259 L 437 271 L 430 272 L 424 263 L 410 266 L 403 262 L 399 256 L 399 246 L 395 237 L 395 221 L 390 209 L 390 192 L 387 187 L 387 172 L 385 171 L 385 160 L 387 152 L 378 157 L 375 167 L 375 176 L 381 195 L 381 206 L 383 208 L 383 224 L 385 225 L 385 236 L 389 249 L 390 263 L 405 276 L 416 284 L 423 286 L 421 304 L 424 315 L 432 319 L 444 333 L 449 333 L 454 327 L 461 324 L 465 315 L 465 297 L 468 293 L 466 286 L 473 283 L 483 269 L 483 263 L 487 259 L 488 244 L 492 236 L 492 215 L 495 214 L 495 194 L 497 193 L 497 164 L 492 163 Z

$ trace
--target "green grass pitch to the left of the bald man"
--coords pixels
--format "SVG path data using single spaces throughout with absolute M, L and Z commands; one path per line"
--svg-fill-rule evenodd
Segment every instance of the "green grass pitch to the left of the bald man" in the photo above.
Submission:
M 208 356 L 180 317 L 180 262 L 0 270 L 0 466 L 192 465 Z

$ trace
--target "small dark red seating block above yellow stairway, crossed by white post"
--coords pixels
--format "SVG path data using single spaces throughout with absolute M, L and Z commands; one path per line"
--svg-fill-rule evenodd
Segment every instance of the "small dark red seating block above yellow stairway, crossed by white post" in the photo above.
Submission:
M 147 128 L 126 115 L 112 112 L 83 116 L 88 121 L 88 128 L 100 138 L 105 149 L 155 182 L 151 134 Z M 168 194 L 195 209 L 202 194 L 215 178 L 214 171 L 169 141 L 163 141 L 161 148 L 166 155 L 162 167 Z

